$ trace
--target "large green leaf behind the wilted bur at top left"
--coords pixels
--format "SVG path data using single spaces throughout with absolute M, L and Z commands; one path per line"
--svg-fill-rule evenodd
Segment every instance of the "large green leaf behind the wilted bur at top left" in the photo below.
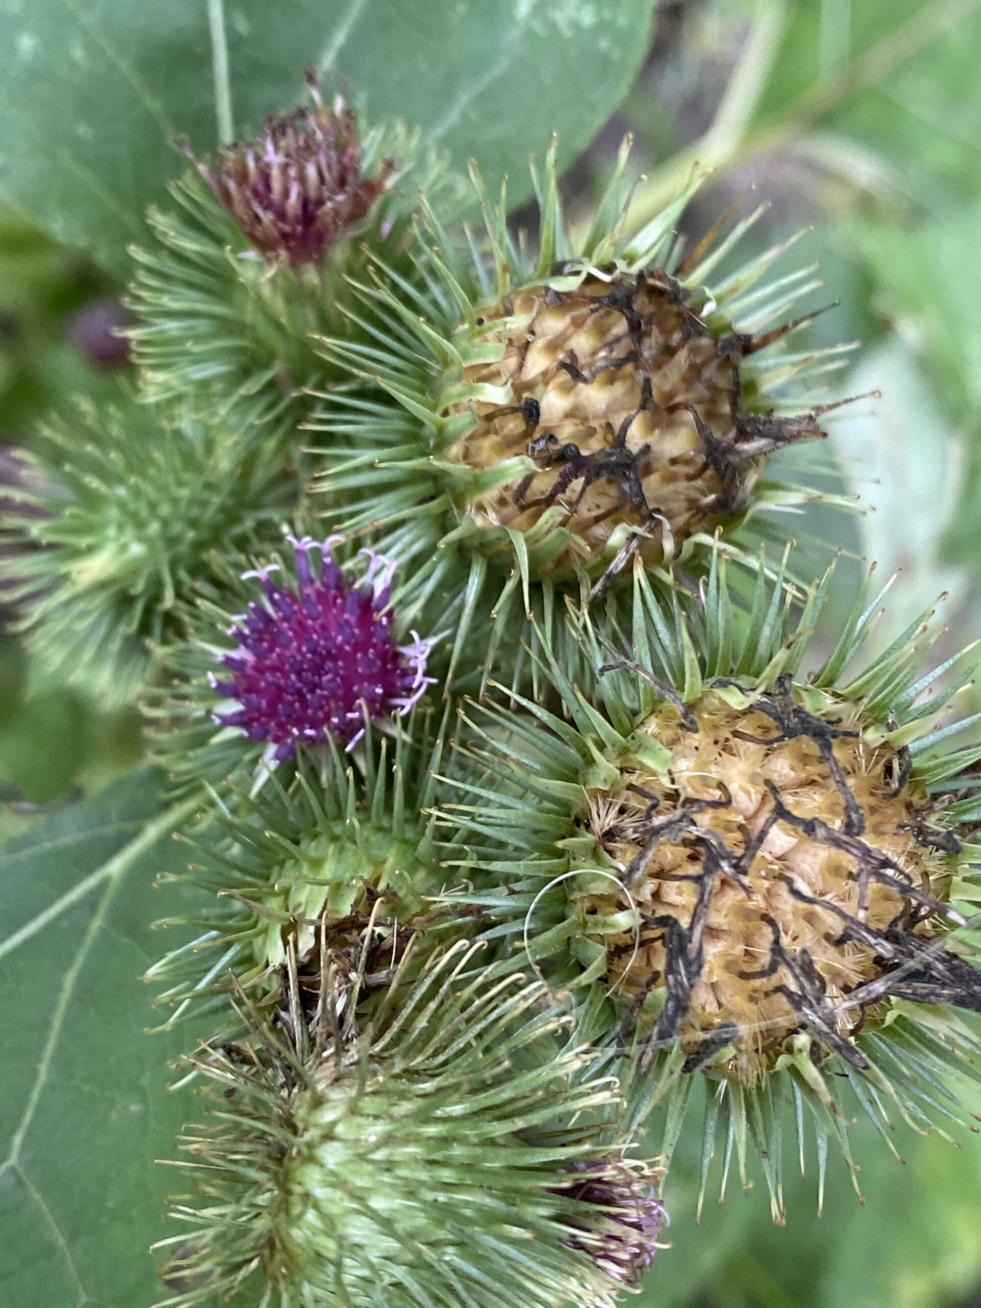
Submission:
M 124 271 L 187 135 L 198 150 L 301 97 L 314 64 L 370 116 L 421 126 L 456 164 L 527 187 L 616 107 L 654 0 L 0 0 L 0 192 Z

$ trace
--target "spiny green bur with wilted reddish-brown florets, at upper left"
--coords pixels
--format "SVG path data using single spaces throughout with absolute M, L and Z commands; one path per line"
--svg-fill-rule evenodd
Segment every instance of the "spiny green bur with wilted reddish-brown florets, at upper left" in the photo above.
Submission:
M 132 251 L 129 336 L 152 400 L 179 398 L 208 416 L 247 400 L 296 424 L 303 390 L 331 379 L 310 334 L 357 332 L 345 327 L 345 277 L 370 254 L 413 276 L 417 186 L 447 216 L 459 209 L 462 188 L 417 131 L 358 132 L 353 112 L 340 101 L 328 110 L 309 81 L 313 110 L 272 116 L 213 162 L 184 146 L 194 171 L 171 184 L 171 208 L 148 215 L 156 241 Z

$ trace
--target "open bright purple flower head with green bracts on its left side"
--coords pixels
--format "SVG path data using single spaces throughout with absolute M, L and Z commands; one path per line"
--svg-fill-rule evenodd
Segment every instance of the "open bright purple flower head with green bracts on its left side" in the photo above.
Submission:
M 289 555 L 226 569 L 224 586 L 203 591 L 211 623 L 192 619 L 196 640 L 173 651 L 182 678 L 164 713 L 169 726 L 174 708 L 187 715 L 195 743 L 162 739 L 182 774 L 200 765 L 222 781 L 245 759 L 275 765 L 298 744 L 328 739 L 349 751 L 368 723 L 404 717 L 436 681 L 429 642 L 416 630 L 396 634 L 390 560 L 362 549 L 361 576 L 345 576 L 332 557 L 340 536 L 286 532 L 286 542 Z

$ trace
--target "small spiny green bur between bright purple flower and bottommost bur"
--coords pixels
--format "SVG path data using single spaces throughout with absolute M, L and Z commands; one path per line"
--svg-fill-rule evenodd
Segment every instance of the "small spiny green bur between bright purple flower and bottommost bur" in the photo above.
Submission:
M 351 753 L 327 740 L 301 749 L 286 783 L 267 768 L 258 794 L 226 793 L 179 878 L 209 897 L 166 923 L 196 934 L 148 973 L 171 1022 L 203 1003 L 226 1012 L 233 977 L 275 995 L 288 960 L 314 977 L 336 951 L 391 961 L 447 884 L 429 812 L 445 736 L 446 715 L 416 708 L 394 738 L 369 725 Z

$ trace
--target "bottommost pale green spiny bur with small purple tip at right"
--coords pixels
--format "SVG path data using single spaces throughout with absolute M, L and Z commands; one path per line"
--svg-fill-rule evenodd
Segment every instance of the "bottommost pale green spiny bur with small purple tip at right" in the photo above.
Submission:
M 573 1125 L 616 1090 L 543 988 L 466 981 L 467 946 L 407 985 L 408 960 L 360 1033 L 331 973 L 292 1039 L 252 1018 L 199 1059 L 224 1093 L 183 1141 L 208 1181 L 173 1210 L 167 1304 L 599 1308 L 650 1262 L 658 1168 Z

